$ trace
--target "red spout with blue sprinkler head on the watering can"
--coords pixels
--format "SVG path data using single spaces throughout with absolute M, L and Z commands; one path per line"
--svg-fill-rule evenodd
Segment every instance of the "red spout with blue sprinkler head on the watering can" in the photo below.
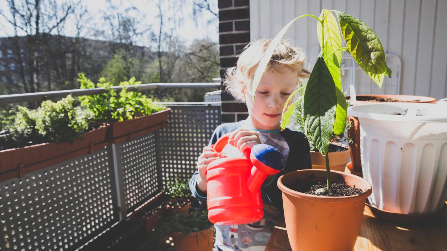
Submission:
M 253 163 L 253 168 L 247 186 L 252 193 L 261 188 L 267 176 L 278 174 L 286 165 L 283 154 L 277 148 L 268 144 L 253 146 L 250 160 Z

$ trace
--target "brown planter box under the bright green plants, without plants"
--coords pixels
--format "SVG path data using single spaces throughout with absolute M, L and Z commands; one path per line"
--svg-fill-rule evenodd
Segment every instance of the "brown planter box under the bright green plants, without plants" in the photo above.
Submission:
M 161 128 L 166 128 L 170 111 L 171 108 L 166 108 L 163 111 L 157 111 L 135 119 L 110 123 L 110 128 L 107 130 L 107 139 L 117 144 Z

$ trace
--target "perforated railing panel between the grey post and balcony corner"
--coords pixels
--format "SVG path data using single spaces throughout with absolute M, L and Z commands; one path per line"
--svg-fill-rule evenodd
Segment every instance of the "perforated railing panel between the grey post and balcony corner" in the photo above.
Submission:
M 155 133 L 120 144 L 128 213 L 160 191 L 157 181 Z

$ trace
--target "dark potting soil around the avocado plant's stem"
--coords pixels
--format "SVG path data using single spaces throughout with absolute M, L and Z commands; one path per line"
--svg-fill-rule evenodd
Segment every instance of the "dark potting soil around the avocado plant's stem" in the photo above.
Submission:
M 351 196 L 363 193 L 361 189 L 356 187 L 350 187 L 346 185 L 346 183 L 332 183 L 331 189 L 328 191 L 326 189 L 326 182 L 318 182 L 318 183 L 303 183 L 300 184 L 297 191 L 301 193 L 313 194 L 315 195 L 315 191 L 320 188 L 324 188 L 324 193 L 318 194 L 320 196 L 328 196 L 328 197 L 342 197 L 342 196 Z

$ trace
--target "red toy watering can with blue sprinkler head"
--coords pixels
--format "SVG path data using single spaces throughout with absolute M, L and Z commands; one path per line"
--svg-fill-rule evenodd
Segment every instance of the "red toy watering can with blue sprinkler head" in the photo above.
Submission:
M 212 147 L 222 152 L 228 144 L 223 135 Z M 239 225 L 260 221 L 261 185 L 269 175 L 284 169 L 283 154 L 268 144 L 245 149 L 244 157 L 223 157 L 207 167 L 208 219 L 219 225 Z

